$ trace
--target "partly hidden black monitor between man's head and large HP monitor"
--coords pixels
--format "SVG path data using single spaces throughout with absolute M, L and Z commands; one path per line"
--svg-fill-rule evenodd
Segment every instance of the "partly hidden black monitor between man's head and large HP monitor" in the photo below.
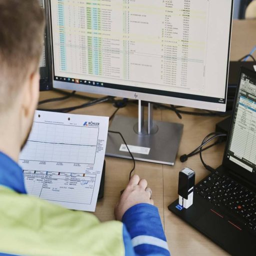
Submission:
M 48 1 L 39 0 L 41 7 L 45 10 L 46 28 L 43 39 L 43 50 L 40 59 L 40 91 L 52 89 L 51 52 L 50 52 L 50 32 L 49 32 L 49 12 Z

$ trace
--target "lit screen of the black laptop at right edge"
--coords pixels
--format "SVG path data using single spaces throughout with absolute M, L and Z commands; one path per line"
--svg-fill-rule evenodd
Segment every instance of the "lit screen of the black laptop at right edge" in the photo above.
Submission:
M 226 157 L 256 174 L 256 75 L 242 71 L 239 83 Z

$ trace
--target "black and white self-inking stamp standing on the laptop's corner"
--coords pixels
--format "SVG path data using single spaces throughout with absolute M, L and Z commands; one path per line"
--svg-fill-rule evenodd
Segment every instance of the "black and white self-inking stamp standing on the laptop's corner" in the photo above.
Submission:
M 193 187 L 195 181 L 195 172 L 186 167 L 178 174 L 178 203 L 188 208 L 193 204 Z

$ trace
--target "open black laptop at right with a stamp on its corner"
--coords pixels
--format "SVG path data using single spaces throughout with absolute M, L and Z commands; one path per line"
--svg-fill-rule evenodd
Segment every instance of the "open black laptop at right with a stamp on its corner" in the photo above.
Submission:
M 256 72 L 240 70 L 222 165 L 194 186 L 192 206 L 168 209 L 231 255 L 256 255 Z

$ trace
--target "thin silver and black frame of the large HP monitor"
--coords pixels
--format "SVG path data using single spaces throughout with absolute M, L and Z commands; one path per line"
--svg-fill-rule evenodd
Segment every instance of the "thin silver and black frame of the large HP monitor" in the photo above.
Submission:
M 50 24 L 52 22 L 52 11 L 51 4 L 49 0 L 49 19 Z M 231 42 L 231 31 L 232 31 L 232 17 L 233 17 L 233 0 L 231 0 L 231 12 L 230 12 L 230 23 L 229 23 L 229 39 L 228 39 L 228 50 L 227 50 L 227 61 L 226 61 L 226 81 L 225 81 L 225 98 L 223 102 L 211 102 L 211 101 L 203 101 L 194 98 L 194 94 L 191 95 L 191 98 L 183 98 L 183 97 L 174 97 L 174 96 L 165 96 L 160 94 L 151 94 L 147 92 L 141 92 L 141 87 L 134 87 L 134 90 L 125 90 L 125 89 L 117 89 L 117 88 L 109 88 L 109 87 L 101 87 L 87 84 L 76 84 L 75 82 L 66 82 L 59 81 L 55 79 L 55 66 L 54 66 L 54 54 L 53 54 L 53 34 L 52 28 L 50 27 L 50 35 L 51 35 L 51 44 L 52 44 L 52 75 L 53 75 L 53 88 L 57 89 L 67 89 L 67 90 L 76 90 L 81 92 L 102 94 L 102 95 L 111 95 L 116 97 L 125 97 L 130 99 L 138 99 L 156 103 L 165 103 L 165 104 L 173 104 L 173 105 L 181 105 L 186 107 L 207 109 L 207 110 L 215 110 L 215 111 L 226 111 L 226 101 L 227 101 L 227 85 L 228 85 L 228 72 L 229 72 L 229 57 L 230 57 L 230 42 Z M 77 77 L 79 78 L 79 77 Z M 95 81 L 102 82 L 102 81 Z M 74 87 L 74 85 L 77 85 Z M 114 86 L 123 86 L 120 84 L 112 84 Z M 126 86 L 126 85 L 124 85 Z M 157 91 L 157 90 L 156 90 Z M 184 93 L 178 93 L 184 94 Z

